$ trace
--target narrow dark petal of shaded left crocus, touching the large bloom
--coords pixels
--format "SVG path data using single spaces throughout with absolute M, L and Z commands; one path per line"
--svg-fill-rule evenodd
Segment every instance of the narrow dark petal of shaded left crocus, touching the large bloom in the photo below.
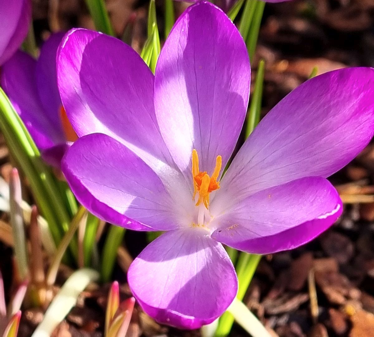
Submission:
M 64 35 L 65 33 L 55 33 L 47 39 L 40 49 L 40 56 L 36 64 L 36 85 L 40 101 L 46 111 L 46 118 L 49 118 L 60 128 L 61 99 L 57 88 L 56 55 Z M 60 132 L 63 132 L 62 129 Z

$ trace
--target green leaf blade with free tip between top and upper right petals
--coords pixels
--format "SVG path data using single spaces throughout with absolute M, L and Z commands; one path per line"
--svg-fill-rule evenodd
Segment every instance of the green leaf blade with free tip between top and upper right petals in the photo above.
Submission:
M 261 114 L 261 102 L 262 102 L 262 92 L 264 86 L 264 74 L 265 74 L 265 61 L 261 60 L 258 64 L 255 88 L 251 98 L 251 104 L 249 105 L 247 125 L 245 130 L 245 138 L 252 133 L 254 128 L 260 122 Z

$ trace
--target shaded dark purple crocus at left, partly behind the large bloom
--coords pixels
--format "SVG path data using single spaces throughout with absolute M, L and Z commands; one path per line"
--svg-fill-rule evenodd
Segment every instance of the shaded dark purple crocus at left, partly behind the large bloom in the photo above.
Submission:
M 36 61 L 17 51 L 1 68 L 0 83 L 25 123 L 43 158 L 59 167 L 76 139 L 62 108 L 56 78 L 56 53 L 64 33 L 52 34 Z

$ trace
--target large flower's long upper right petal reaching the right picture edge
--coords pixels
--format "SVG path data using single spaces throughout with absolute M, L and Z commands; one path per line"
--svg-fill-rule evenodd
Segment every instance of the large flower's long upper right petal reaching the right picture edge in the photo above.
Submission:
M 373 132 L 373 68 L 314 77 L 282 99 L 255 128 L 213 202 L 225 203 L 224 198 L 234 204 L 301 177 L 328 177 L 349 163 Z

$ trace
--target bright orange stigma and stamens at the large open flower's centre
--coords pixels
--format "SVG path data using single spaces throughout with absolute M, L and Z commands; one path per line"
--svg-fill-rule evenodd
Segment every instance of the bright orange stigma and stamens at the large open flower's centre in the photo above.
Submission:
M 220 182 L 217 181 L 218 176 L 222 168 L 222 157 L 217 156 L 215 161 L 215 168 L 212 177 L 206 171 L 200 172 L 199 169 L 199 156 L 195 149 L 192 150 L 192 178 L 193 178 L 193 199 L 197 193 L 199 193 L 199 199 L 196 202 L 196 206 L 201 203 L 208 209 L 209 206 L 209 194 L 220 188 Z

